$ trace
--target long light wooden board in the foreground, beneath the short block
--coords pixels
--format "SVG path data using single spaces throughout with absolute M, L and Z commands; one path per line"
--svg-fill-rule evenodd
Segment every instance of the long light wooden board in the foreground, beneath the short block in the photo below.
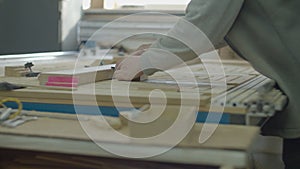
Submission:
M 62 119 L 58 117 L 61 116 Z M 17 128 L 4 128 L 0 127 L 0 133 L 2 134 L 16 134 L 26 136 L 39 136 L 47 138 L 65 138 L 74 140 L 90 140 L 87 134 L 82 129 L 77 120 L 70 119 L 70 117 L 76 115 L 68 115 L 68 119 L 65 115 L 56 114 L 55 118 L 43 118 L 40 117 L 36 121 L 25 123 Z M 165 145 L 165 142 L 157 143 L 145 143 L 145 142 L 132 142 L 132 140 L 117 140 L 111 133 L 112 129 L 107 128 L 104 125 L 104 121 L 99 116 L 80 116 L 84 118 L 81 123 L 86 127 L 85 130 L 89 131 L 89 134 L 94 134 L 93 138 L 101 142 L 110 143 L 122 143 L 122 144 L 153 144 L 153 145 Z M 86 120 L 88 119 L 88 120 Z M 110 120 L 114 120 L 110 118 Z M 179 147 L 197 147 L 204 149 L 228 149 L 228 150 L 242 150 L 246 151 L 251 148 L 254 139 L 257 137 L 258 127 L 246 127 L 235 125 L 219 125 L 213 136 L 204 144 L 197 142 L 202 124 L 196 124 L 190 132 L 191 136 L 188 139 L 183 140 Z M 127 133 L 126 127 L 122 127 L 120 132 Z M 97 133 L 97 134 L 96 134 Z

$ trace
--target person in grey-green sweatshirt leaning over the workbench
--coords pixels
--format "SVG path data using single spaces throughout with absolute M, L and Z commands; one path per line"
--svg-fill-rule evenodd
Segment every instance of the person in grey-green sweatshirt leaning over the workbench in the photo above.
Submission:
M 261 128 L 262 135 L 284 139 L 286 169 L 300 168 L 299 8 L 299 0 L 192 0 L 183 17 L 203 31 L 216 48 L 222 47 L 225 41 L 256 70 L 274 79 L 288 96 L 285 110 L 277 112 Z M 178 25 L 173 29 L 185 31 Z M 183 61 L 197 57 L 187 46 L 170 37 L 160 38 L 151 48 L 170 51 Z M 115 78 L 132 80 L 159 70 L 151 69 L 151 64 L 164 64 L 166 69 L 175 64 L 155 50 L 144 51 L 118 64 Z

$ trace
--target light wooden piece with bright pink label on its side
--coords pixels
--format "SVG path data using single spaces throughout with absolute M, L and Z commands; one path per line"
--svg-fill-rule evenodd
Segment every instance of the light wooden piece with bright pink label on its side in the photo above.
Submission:
M 97 67 L 89 67 L 82 69 L 71 69 L 54 72 L 44 72 L 38 77 L 40 85 L 47 85 L 48 82 L 51 84 L 55 82 L 77 82 L 77 85 L 98 82 L 102 80 L 112 79 L 114 70 L 112 67 L 115 65 L 105 65 Z M 58 81 L 53 81 L 59 79 Z M 71 79 L 71 81 L 70 81 Z

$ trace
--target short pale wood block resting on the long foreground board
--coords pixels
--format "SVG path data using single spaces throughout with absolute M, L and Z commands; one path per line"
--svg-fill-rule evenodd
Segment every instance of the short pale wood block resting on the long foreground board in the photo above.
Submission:
M 197 113 L 198 108 L 192 106 L 151 105 L 149 109 L 145 110 L 120 112 L 119 118 L 123 126 L 128 126 L 129 136 L 149 138 L 163 133 L 175 122 L 185 121 L 193 126 Z M 191 121 L 192 123 L 190 123 Z M 182 124 L 182 127 L 184 126 Z

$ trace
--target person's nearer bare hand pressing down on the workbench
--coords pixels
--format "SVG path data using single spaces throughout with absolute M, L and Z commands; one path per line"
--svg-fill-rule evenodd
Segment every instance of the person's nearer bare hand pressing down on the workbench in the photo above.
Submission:
M 123 81 L 138 79 L 143 75 L 140 66 L 140 56 L 126 57 L 120 63 L 116 64 L 114 78 Z

